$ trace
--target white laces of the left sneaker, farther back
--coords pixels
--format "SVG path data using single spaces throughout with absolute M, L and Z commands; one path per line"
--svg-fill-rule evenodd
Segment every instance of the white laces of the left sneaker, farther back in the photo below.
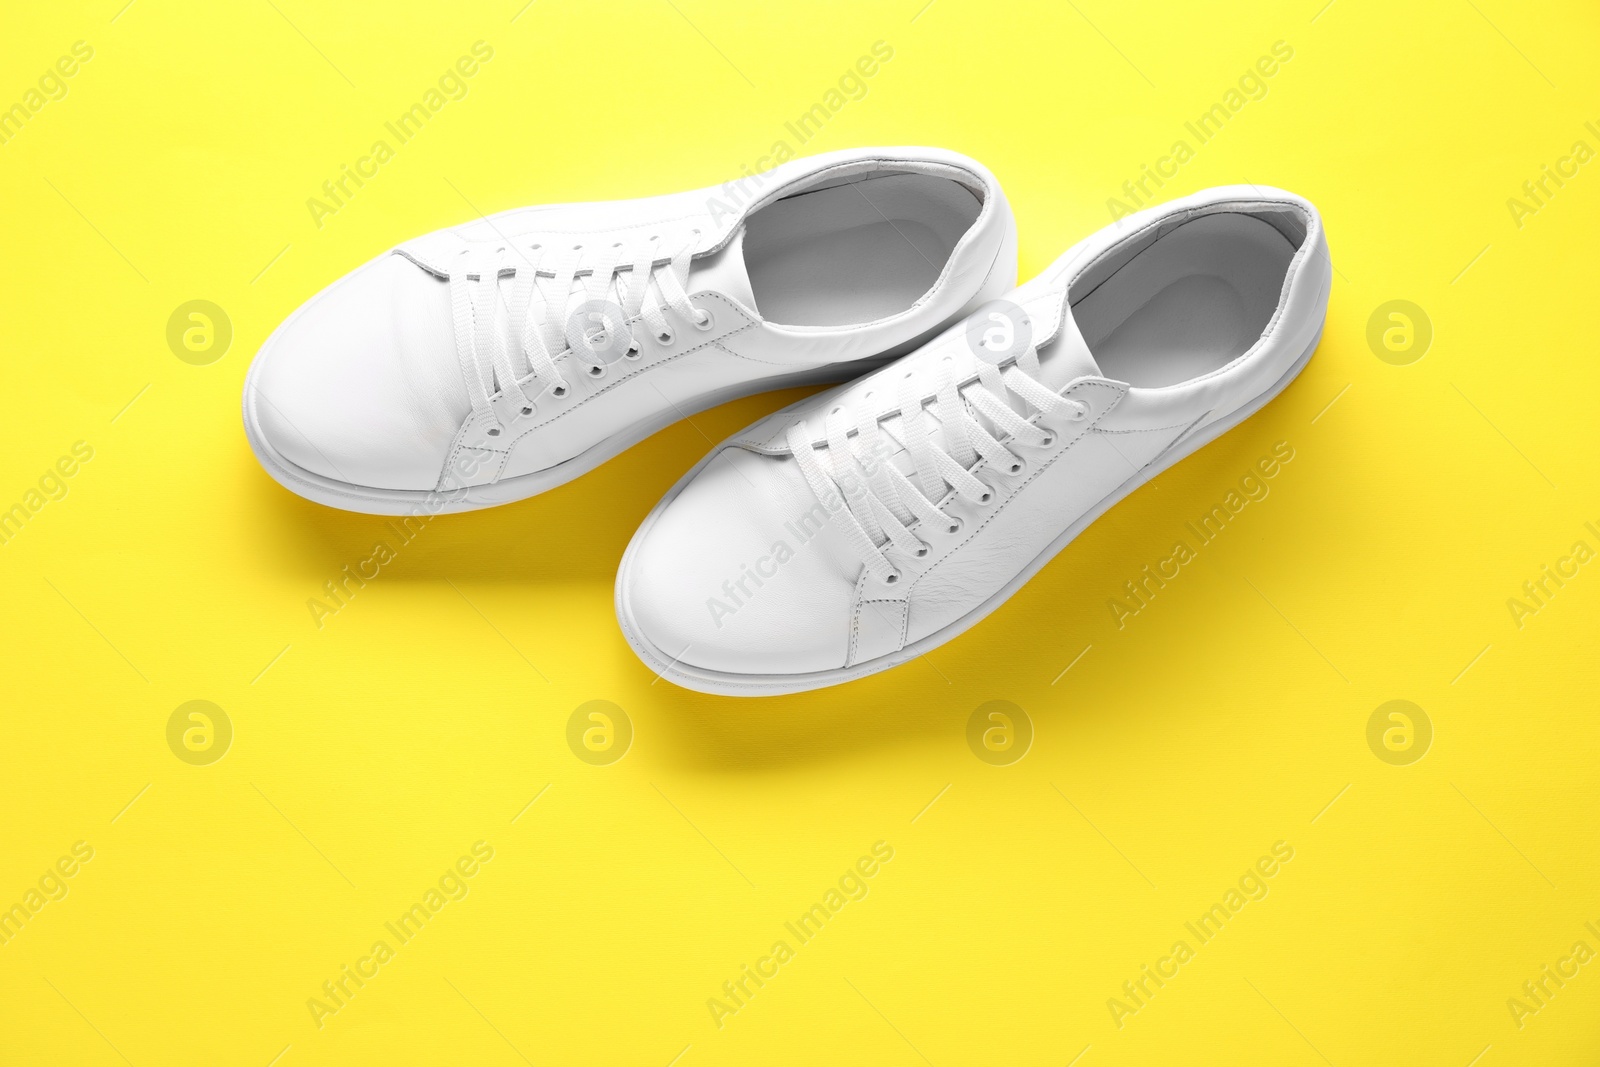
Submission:
M 523 416 L 533 414 L 533 400 L 544 389 L 557 398 L 566 397 L 571 386 L 557 366 L 563 355 L 582 365 L 590 378 L 605 376 L 608 357 L 640 358 L 638 339 L 627 325 L 635 317 L 643 317 L 661 344 L 674 341 L 667 307 L 696 328 L 710 330 L 710 312 L 694 307 L 685 288 L 698 237 L 699 230 L 680 240 L 654 235 L 632 246 L 538 243 L 515 254 L 507 248 L 491 254 L 462 250 L 461 269 L 450 274 L 456 355 L 472 411 L 485 421 L 486 432 L 498 437 L 502 427 L 491 403 L 496 390 Z M 514 275 L 509 291 L 501 286 L 502 270 Z M 584 278 L 579 312 L 589 309 L 589 315 L 568 315 L 578 278 Z M 496 322 L 502 296 L 512 339 L 526 365 L 523 374 L 512 365 L 514 346 L 506 344 Z M 533 395 L 522 381 L 528 374 L 538 386 Z

